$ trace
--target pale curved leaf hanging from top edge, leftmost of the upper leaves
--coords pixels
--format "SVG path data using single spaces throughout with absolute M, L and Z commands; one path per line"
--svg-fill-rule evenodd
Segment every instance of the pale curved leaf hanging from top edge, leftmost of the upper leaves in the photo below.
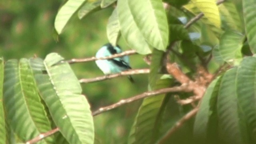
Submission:
M 60 8 L 54 22 L 54 27 L 58 34 L 62 32 L 70 18 L 86 1 L 87 0 L 68 0 L 66 4 Z

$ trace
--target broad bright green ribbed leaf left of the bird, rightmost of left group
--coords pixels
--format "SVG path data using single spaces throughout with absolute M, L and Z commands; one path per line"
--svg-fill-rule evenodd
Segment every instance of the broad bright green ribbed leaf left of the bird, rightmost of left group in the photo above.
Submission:
M 31 59 L 40 95 L 60 132 L 71 144 L 93 144 L 94 126 L 90 106 L 74 72 L 56 53 L 44 61 Z

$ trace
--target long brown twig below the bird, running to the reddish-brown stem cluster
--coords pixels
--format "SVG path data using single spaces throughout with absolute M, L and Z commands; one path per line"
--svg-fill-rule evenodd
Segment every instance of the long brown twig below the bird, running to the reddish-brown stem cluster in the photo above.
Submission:
M 164 94 L 164 93 L 168 93 L 168 92 L 184 92 L 184 91 L 189 92 L 191 90 L 188 89 L 188 87 L 186 85 L 181 85 L 181 86 L 175 86 L 175 87 L 172 87 L 172 88 L 163 88 L 163 89 L 159 89 L 159 90 L 144 92 L 144 93 L 139 94 L 137 96 L 133 96 L 131 98 L 120 100 L 119 102 L 116 102 L 115 104 L 111 104 L 110 106 L 105 106 L 105 107 L 99 108 L 98 110 L 92 112 L 92 115 L 96 116 L 96 115 L 98 115 L 102 112 L 112 110 L 112 109 L 117 108 L 119 106 L 122 106 L 124 104 L 128 104 L 130 102 L 134 102 L 136 100 L 140 100 L 142 98 L 146 98 L 146 97 L 149 97 L 149 96 L 155 96 L 155 95 L 158 95 L 158 94 Z

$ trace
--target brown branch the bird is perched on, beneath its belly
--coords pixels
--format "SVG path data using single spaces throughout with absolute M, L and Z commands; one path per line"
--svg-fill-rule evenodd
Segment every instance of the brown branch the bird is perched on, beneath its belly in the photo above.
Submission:
M 109 75 L 105 75 L 105 76 L 99 76 L 96 78 L 82 78 L 79 80 L 79 82 L 80 83 L 98 82 L 98 81 L 107 80 L 110 78 L 116 78 L 116 77 L 120 77 L 120 76 L 127 76 L 127 75 L 134 75 L 134 74 L 148 74 L 149 72 L 150 72 L 150 70 L 148 68 L 132 69 L 132 70 L 123 71 L 123 72 L 120 72 L 117 74 L 109 74 Z

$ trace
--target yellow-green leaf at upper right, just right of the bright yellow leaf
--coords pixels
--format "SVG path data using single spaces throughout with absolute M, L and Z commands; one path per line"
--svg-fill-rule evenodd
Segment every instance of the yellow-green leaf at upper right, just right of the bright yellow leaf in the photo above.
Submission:
M 220 10 L 220 16 L 222 25 L 226 25 L 227 28 L 242 32 L 242 21 L 239 17 L 239 13 L 231 0 L 226 0 L 218 6 Z

